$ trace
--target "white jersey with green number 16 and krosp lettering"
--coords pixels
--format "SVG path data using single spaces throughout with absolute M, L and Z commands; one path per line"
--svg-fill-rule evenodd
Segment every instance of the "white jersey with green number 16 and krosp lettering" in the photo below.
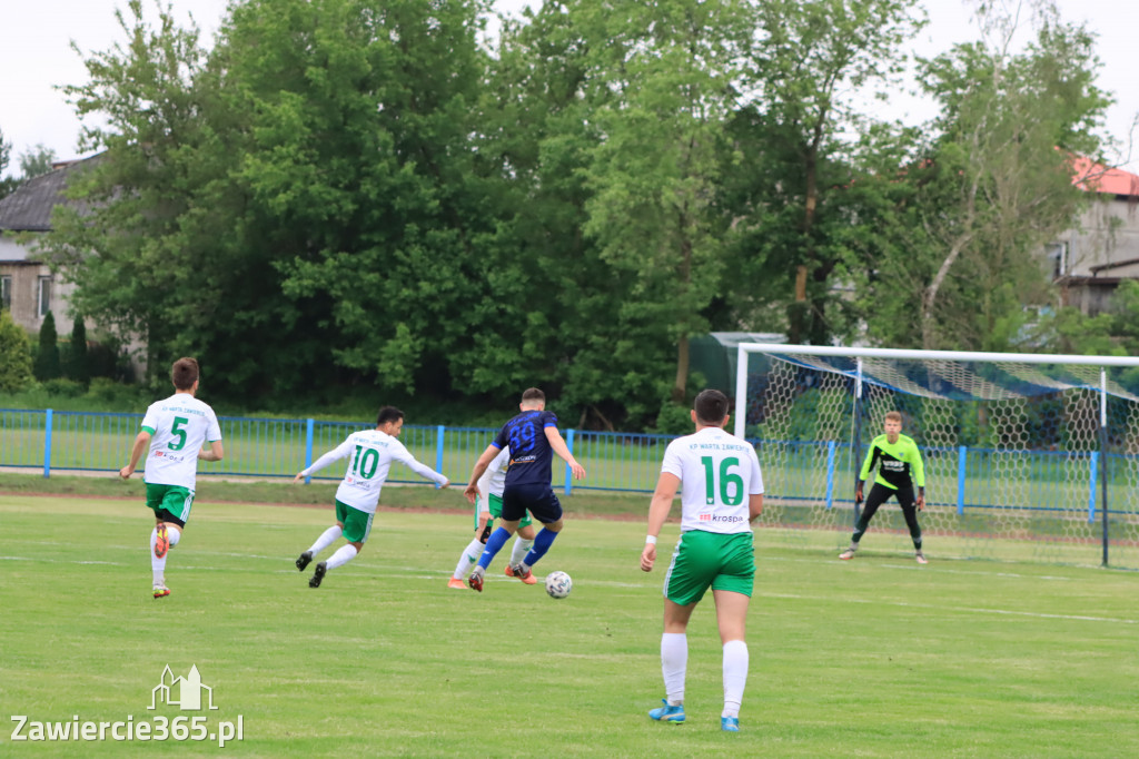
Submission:
M 680 531 L 751 532 L 749 495 L 763 492 L 755 448 L 720 427 L 678 438 L 661 472 L 680 478 Z

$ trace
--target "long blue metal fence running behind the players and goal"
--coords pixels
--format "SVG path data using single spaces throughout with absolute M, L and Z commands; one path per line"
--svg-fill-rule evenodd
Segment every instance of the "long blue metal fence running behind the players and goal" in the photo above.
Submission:
M 117 472 L 126 463 L 141 414 L 54 411 L 52 409 L 0 409 L 0 468 L 55 472 Z M 320 419 L 274 419 L 219 417 L 226 458 L 199 463 L 203 474 L 237 478 L 292 478 L 321 454 L 338 446 L 349 434 L 370 429 L 367 422 Z M 424 464 L 443 472 L 452 481 L 466 481 L 478 455 L 498 430 L 404 425 L 401 441 Z M 576 489 L 593 491 L 652 492 L 671 435 L 615 432 L 565 431 L 566 443 L 588 476 L 575 482 L 570 467 L 555 467 L 555 480 L 565 495 Z M 756 442 L 757 441 L 753 441 Z M 825 471 L 825 503 L 849 503 L 847 483 L 853 480 L 850 446 L 834 441 L 757 443 L 764 464 L 769 496 L 788 500 L 817 500 L 819 473 Z M 795 464 L 778 468 L 767 460 L 776 447 L 790 454 L 781 457 Z M 1098 452 L 1009 451 L 982 448 L 927 448 L 925 451 L 931 503 L 951 506 L 958 514 L 967 508 L 1030 508 L 1041 511 L 1087 511 L 1096 519 L 1097 481 L 1103 466 Z M 1109 455 L 1109 472 L 1134 467 L 1116 465 L 1116 459 L 1134 456 Z M 775 470 L 775 471 L 773 471 Z M 312 478 L 338 480 L 329 467 Z M 395 467 L 392 482 L 420 483 L 417 475 Z M 1002 483 L 1018 483 L 1015 492 L 1002 495 Z M 778 492 L 770 485 L 778 483 Z M 1122 484 L 1122 483 L 1121 483 Z M 842 493 L 836 495 L 836 493 Z

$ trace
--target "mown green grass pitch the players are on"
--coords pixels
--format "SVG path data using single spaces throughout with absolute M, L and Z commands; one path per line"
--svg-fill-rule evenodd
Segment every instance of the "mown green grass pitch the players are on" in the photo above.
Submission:
M 570 521 L 538 565 L 573 576 L 555 601 L 502 558 L 483 594 L 448 589 L 470 523 L 453 513 L 379 513 L 360 557 L 310 589 L 293 560 L 330 521 L 198 503 L 155 601 L 141 499 L 0 497 L 0 754 L 1139 756 L 1134 572 L 944 560 L 935 538 L 919 568 L 872 532 L 845 563 L 830 533 L 760 531 L 743 732 L 724 734 L 711 596 L 689 628 L 687 724 L 646 716 L 675 524 L 646 576 L 644 522 Z M 166 664 L 197 666 L 218 709 L 149 710 Z M 30 743 L 16 715 L 240 717 L 244 736 Z

